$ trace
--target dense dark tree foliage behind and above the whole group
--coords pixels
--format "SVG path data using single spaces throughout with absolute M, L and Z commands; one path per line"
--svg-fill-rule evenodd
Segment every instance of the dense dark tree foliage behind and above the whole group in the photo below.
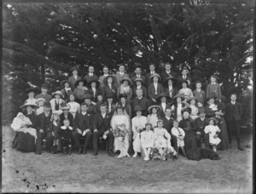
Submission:
M 175 3 L 4 3 L 3 121 L 26 100 L 26 88 L 60 86 L 71 66 L 84 76 L 139 63 L 176 71 L 187 66 L 204 87 L 216 73 L 223 94 L 239 94 L 252 114 L 253 14 L 247 4 L 190 6 Z M 248 60 L 251 59 L 251 60 Z M 51 91 L 50 91 L 51 92 Z

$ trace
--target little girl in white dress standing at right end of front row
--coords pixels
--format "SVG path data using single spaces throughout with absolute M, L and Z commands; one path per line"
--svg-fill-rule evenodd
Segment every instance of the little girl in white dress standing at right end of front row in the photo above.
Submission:
M 209 118 L 209 125 L 205 128 L 205 134 L 209 134 L 209 142 L 212 145 L 212 150 L 217 151 L 217 145 L 221 141 L 218 138 L 218 132 L 220 132 L 220 129 L 218 128 L 218 125 L 216 124 L 217 120 L 213 117 Z

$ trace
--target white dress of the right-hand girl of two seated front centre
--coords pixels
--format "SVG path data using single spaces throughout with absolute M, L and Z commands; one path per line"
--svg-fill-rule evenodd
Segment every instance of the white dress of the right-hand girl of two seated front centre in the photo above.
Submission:
M 162 148 L 171 146 L 171 135 L 166 128 L 154 128 L 154 145 Z

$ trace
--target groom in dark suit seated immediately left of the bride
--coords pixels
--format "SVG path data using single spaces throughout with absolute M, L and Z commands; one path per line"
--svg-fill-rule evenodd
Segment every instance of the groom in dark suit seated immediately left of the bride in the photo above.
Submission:
M 113 157 L 113 130 L 110 127 L 111 115 L 107 113 L 106 104 L 100 106 L 101 112 L 94 116 L 93 133 L 92 133 L 92 148 L 98 154 L 98 138 L 108 140 L 108 155 Z

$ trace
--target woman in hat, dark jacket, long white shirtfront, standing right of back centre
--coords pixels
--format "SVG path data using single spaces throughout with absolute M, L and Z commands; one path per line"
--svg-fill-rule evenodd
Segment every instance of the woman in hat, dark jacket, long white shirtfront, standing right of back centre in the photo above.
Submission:
M 165 92 L 162 84 L 160 83 L 160 75 L 154 73 L 151 77 L 152 83 L 148 86 L 148 98 L 151 100 L 151 104 L 156 104 L 156 99 L 159 94 Z

